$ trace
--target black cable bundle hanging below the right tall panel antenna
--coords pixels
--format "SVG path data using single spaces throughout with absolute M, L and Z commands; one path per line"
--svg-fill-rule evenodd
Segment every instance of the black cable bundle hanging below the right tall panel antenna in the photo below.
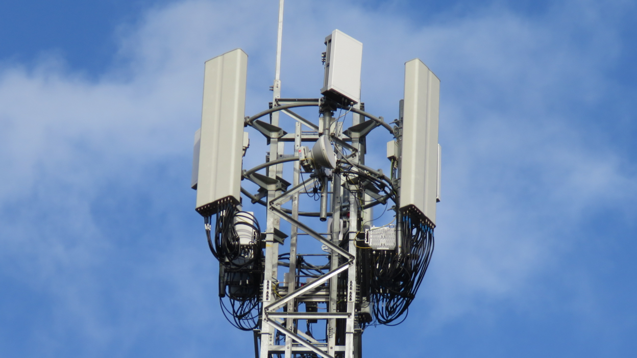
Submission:
M 402 225 L 403 253 L 374 250 L 371 257 L 373 313 L 378 323 L 387 326 L 396 326 L 407 317 L 434 250 L 433 225 L 428 220 L 406 211 Z M 403 314 L 400 322 L 392 323 Z

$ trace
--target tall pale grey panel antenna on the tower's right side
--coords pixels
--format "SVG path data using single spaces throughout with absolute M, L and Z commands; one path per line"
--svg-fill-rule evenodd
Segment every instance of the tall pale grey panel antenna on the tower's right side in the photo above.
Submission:
M 419 59 L 404 64 L 400 208 L 417 208 L 436 225 L 440 80 Z

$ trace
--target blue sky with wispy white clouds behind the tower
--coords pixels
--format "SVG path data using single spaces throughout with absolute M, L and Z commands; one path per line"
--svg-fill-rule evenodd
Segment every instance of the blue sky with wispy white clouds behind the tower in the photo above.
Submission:
M 252 354 L 218 307 L 192 136 L 203 62 L 227 50 L 249 55 L 247 114 L 267 106 L 276 12 L 0 5 L 0 357 Z M 636 15 L 619 0 L 287 1 L 283 96 L 318 96 L 335 28 L 364 44 L 372 113 L 396 117 L 405 61 L 441 79 L 436 251 L 408 319 L 367 329 L 365 357 L 634 355 Z

